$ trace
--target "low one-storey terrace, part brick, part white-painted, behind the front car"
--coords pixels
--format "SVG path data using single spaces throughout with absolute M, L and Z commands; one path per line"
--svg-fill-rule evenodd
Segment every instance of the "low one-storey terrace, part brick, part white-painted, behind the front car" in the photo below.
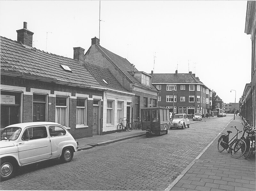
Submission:
M 84 62 L 81 47 L 73 48 L 74 59 L 33 48 L 33 34 L 24 22 L 17 41 L 1 36 L 1 129 L 52 121 L 77 139 L 116 131 L 104 124 L 132 118 L 135 93 L 108 68 Z

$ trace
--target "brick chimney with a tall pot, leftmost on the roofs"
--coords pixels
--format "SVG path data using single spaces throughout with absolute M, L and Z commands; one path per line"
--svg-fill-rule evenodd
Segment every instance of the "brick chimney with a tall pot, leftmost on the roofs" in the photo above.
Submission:
M 33 34 L 31 31 L 27 29 L 27 22 L 23 22 L 23 28 L 20 30 L 16 30 L 17 32 L 17 41 L 21 42 L 26 46 L 32 47 L 33 44 Z

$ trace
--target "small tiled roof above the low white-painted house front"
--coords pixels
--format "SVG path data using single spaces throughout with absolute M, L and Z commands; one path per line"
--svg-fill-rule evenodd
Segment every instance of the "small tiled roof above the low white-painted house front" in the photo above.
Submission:
M 92 74 L 92 76 L 99 82 L 101 86 L 106 86 L 122 91 L 128 91 L 121 86 L 121 84 L 116 80 L 116 78 L 112 75 L 112 73 L 110 73 L 107 68 L 102 68 L 88 62 L 85 62 L 84 66 L 86 70 L 88 70 Z M 108 84 L 106 84 L 103 80 L 106 80 Z

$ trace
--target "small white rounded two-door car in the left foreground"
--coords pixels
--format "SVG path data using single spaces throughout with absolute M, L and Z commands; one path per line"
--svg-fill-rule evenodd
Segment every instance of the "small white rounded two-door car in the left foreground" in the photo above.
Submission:
M 19 123 L 5 127 L 0 134 L 1 180 L 12 178 L 19 166 L 60 157 L 70 162 L 78 141 L 60 124 Z

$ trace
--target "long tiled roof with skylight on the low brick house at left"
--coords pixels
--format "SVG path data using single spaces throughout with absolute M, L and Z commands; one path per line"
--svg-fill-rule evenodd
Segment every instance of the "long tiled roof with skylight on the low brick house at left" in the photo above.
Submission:
M 64 70 L 61 65 L 68 66 L 72 71 Z M 19 42 L 2 36 L 1 71 L 100 86 L 99 82 L 85 69 L 83 62 L 36 48 L 25 48 Z

